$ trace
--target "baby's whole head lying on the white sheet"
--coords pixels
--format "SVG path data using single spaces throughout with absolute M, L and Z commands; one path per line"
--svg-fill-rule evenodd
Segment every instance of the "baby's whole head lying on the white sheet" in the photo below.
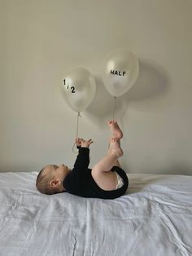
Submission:
M 63 192 L 63 179 L 69 171 L 68 166 L 63 164 L 45 166 L 37 175 L 36 187 L 38 191 L 46 195 Z

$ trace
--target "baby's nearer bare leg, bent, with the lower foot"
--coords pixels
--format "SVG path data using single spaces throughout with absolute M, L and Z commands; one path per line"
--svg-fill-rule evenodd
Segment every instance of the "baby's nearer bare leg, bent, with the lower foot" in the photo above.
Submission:
M 106 157 L 93 167 L 91 174 L 98 186 L 104 190 L 113 190 L 116 188 L 116 174 L 111 172 L 111 168 L 116 165 L 119 157 L 123 156 L 123 150 L 115 138 L 111 138 L 109 151 Z

